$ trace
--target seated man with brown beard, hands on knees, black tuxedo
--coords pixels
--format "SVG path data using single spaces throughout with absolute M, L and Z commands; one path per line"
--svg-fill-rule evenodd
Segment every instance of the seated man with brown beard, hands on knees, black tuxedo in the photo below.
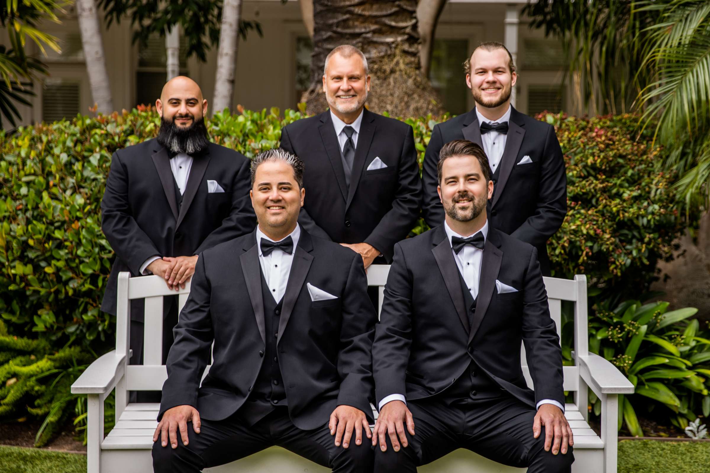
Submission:
M 416 472 L 466 448 L 530 473 L 569 473 L 562 350 L 537 250 L 488 221 L 494 189 L 479 145 L 444 145 L 437 175 L 444 223 L 395 245 L 376 325 L 374 471 Z

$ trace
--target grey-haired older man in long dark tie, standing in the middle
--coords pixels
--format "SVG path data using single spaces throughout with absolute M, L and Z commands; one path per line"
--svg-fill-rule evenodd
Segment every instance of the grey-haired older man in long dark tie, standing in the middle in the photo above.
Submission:
M 317 196 L 306 201 L 298 221 L 312 235 L 358 252 L 366 268 L 387 264 L 419 217 L 412 127 L 365 108 L 367 59 L 354 46 L 328 54 L 323 90 L 328 111 L 281 131 L 281 148 L 305 162 L 305 187 Z

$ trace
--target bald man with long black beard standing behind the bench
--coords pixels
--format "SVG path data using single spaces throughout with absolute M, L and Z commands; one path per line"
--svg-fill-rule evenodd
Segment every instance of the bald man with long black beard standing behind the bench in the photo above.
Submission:
M 200 252 L 256 227 L 249 160 L 209 142 L 207 100 L 195 81 L 171 79 L 155 108 L 158 138 L 114 152 L 101 203 L 102 229 L 116 252 L 102 310 L 114 315 L 119 272 L 157 274 L 177 290 L 192 277 Z M 178 323 L 177 296 L 163 307 L 165 363 Z M 131 301 L 131 350 L 131 364 L 141 364 L 142 299 Z M 131 401 L 160 401 L 160 392 L 139 394 Z

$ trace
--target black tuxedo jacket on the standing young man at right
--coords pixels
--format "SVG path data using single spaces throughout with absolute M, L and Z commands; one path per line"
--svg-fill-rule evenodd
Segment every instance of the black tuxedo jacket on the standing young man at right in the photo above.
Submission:
M 422 213 L 432 228 L 444 222 L 444 208 L 437 194 L 439 151 L 449 141 L 464 139 L 483 148 L 475 108 L 432 130 L 422 170 Z M 525 156 L 532 163 L 518 165 Z M 488 201 L 491 225 L 535 246 L 542 272 L 550 274 L 547 240 L 559 230 L 567 214 L 567 174 L 555 128 L 511 106 L 506 149 L 498 173 L 493 199 Z

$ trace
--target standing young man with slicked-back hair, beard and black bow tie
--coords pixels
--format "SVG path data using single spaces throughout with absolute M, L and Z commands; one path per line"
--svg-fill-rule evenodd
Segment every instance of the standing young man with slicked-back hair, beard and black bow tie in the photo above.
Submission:
M 422 169 L 422 213 L 430 227 L 444 222 L 437 195 L 437 162 L 444 143 L 466 139 L 481 146 L 491 163 L 491 224 L 537 248 L 542 274 L 550 275 L 547 240 L 567 214 L 567 175 L 555 128 L 510 105 L 518 75 L 501 43 L 482 43 L 464 63 L 476 108 L 432 130 Z

